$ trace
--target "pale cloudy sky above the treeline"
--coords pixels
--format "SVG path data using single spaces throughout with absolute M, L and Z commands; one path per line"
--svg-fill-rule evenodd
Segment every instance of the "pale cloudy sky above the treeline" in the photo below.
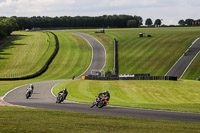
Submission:
M 200 0 L 0 0 L 0 16 L 137 15 L 177 25 L 181 19 L 200 19 Z

